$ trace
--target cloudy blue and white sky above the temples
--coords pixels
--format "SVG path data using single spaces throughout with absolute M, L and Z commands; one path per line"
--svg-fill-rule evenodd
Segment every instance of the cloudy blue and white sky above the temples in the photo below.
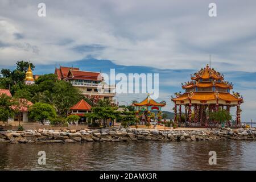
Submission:
M 46 4 L 46 17 L 38 4 Z M 208 15 L 209 3 L 217 16 Z M 0 68 L 30 60 L 35 74 L 67 65 L 109 73 L 159 73 L 158 101 L 171 111 L 181 82 L 209 63 L 244 98 L 256 121 L 255 1 L 0 1 Z M 120 104 L 146 94 L 121 94 Z M 124 102 L 122 102 L 124 101 Z

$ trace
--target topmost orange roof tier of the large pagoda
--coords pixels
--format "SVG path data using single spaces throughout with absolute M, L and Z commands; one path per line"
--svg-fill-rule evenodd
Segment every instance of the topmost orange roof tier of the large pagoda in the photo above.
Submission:
M 217 79 L 222 79 L 223 77 L 220 75 L 220 73 L 216 72 L 214 69 L 210 68 L 207 65 L 207 67 L 197 72 L 195 76 L 191 77 L 192 80 L 199 80 L 200 78 L 203 78 L 203 79 L 214 78 L 217 80 Z

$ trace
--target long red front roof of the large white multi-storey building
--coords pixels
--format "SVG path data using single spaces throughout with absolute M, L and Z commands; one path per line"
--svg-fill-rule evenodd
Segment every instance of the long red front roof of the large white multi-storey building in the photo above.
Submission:
M 77 71 L 70 69 L 67 75 L 67 80 L 71 79 L 102 81 L 103 77 L 100 72 Z

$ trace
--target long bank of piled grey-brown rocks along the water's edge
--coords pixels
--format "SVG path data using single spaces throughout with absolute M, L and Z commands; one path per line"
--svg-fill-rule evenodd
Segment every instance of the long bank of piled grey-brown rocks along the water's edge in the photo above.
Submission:
M 26 130 L 0 133 L 0 143 L 68 143 L 68 142 L 191 142 L 200 140 L 254 140 L 256 129 L 147 130 L 147 129 L 84 129 Z

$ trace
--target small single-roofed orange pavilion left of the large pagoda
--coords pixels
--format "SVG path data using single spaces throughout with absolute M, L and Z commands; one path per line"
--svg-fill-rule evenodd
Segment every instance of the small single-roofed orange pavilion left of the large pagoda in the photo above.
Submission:
M 139 118 L 140 124 L 144 125 L 150 122 L 152 113 L 158 119 L 162 119 L 162 107 L 166 106 L 166 102 L 156 102 L 150 98 L 150 94 L 147 94 L 147 98 L 141 102 L 133 102 L 133 106 L 135 107 L 136 116 Z

